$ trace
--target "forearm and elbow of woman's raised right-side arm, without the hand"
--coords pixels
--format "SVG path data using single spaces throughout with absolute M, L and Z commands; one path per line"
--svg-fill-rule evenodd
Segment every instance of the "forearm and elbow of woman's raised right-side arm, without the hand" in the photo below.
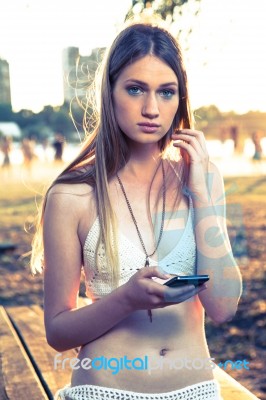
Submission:
M 197 241 L 197 272 L 208 274 L 208 289 L 200 300 L 215 322 L 224 322 L 236 313 L 242 292 L 242 279 L 234 259 L 226 226 L 223 179 L 210 164 L 209 196 L 193 200 Z

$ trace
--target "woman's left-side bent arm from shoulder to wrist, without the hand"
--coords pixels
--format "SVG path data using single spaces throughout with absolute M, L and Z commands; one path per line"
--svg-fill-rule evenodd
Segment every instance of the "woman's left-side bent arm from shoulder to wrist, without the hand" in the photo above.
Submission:
M 77 308 L 82 266 L 79 223 L 83 203 L 89 199 L 71 190 L 75 186 L 53 188 L 44 216 L 45 326 L 49 344 L 58 351 L 94 340 L 130 312 L 119 291 Z

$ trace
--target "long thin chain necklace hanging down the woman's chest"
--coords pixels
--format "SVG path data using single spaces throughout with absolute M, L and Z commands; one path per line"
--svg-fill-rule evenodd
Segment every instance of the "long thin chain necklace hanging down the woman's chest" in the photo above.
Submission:
M 153 251 L 151 254 L 148 254 L 148 252 L 147 252 L 147 250 L 146 250 L 146 247 L 145 247 L 145 245 L 144 245 L 143 238 L 142 238 L 142 236 L 141 236 L 141 233 L 140 233 L 140 230 L 139 230 L 139 227 L 138 227 L 138 224 L 137 224 L 137 220 L 136 220 L 135 215 L 134 215 L 134 213 L 133 213 L 131 204 L 130 204 L 130 202 L 129 202 L 129 200 L 128 200 L 128 197 L 127 197 L 127 194 L 126 194 L 124 185 L 123 185 L 121 179 L 119 178 L 118 174 L 116 174 L 118 183 L 119 183 L 119 185 L 120 185 L 120 187 L 121 187 L 121 190 L 122 190 L 122 193 L 123 193 L 123 195 L 124 195 L 124 197 L 125 197 L 125 200 L 126 200 L 126 203 L 127 203 L 127 207 L 128 207 L 129 212 L 130 212 L 132 221 L 133 221 L 133 223 L 134 223 L 134 225 L 135 225 L 135 228 L 136 228 L 136 231 L 137 231 L 137 234 L 138 234 L 138 237 L 139 237 L 141 246 L 142 246 L 143 251 L 144 251 L 145 256 L 146 256 L 145 267 L 149 267 L 149 266 L 150 266 L 149 258 L 152 257 L 152 256 L 155 254 L 156 250 L 157 250 L 158 247 L 159 247 L 159 244 L 160 244 L 160 242 L 161 242 L 162 235 L 163 235 L 164 220 L 165 220 L 166 183 L 165 183 L 165 170 L 164 170 L 163 162 L 162 162 L 161 164 L 162 164 L 162 173 L 163 173 L 163 209 L 162 209 L 162 221 L 161 221 L 161 227 L 160 227 L 160 233 L 159 233 L 158 241 L 157 241 L 157 244 L 156 244 L 156 247 L 155 247 L 154 251 Z M 148 315 L 149 315 L 149 318 L 150 318 L 150 322 L 152 322 L 152 312 L 151 312 L 151 310 L 148 310 Z

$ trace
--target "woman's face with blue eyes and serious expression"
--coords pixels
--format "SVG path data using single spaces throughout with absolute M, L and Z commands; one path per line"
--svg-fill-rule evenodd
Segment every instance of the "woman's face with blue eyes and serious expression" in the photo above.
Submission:
M 113 101 L 117 123 L 131 141 L 158 144 L 179 105 L 176 74 L 159 58 L 145 56 L 121 72 Z

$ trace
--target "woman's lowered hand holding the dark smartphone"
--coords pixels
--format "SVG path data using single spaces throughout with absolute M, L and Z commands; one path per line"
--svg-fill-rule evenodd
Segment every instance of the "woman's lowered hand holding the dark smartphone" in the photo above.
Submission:
M 143 267 L 120 287 L 127 306 L 132 311 L 182 303 L 207 288 L 205 284 L 196 288 L 194 285 L 171 288 L 156 282 L 153 277 L 167 280 L 171 275 L 163 274 L 158 267 Z

